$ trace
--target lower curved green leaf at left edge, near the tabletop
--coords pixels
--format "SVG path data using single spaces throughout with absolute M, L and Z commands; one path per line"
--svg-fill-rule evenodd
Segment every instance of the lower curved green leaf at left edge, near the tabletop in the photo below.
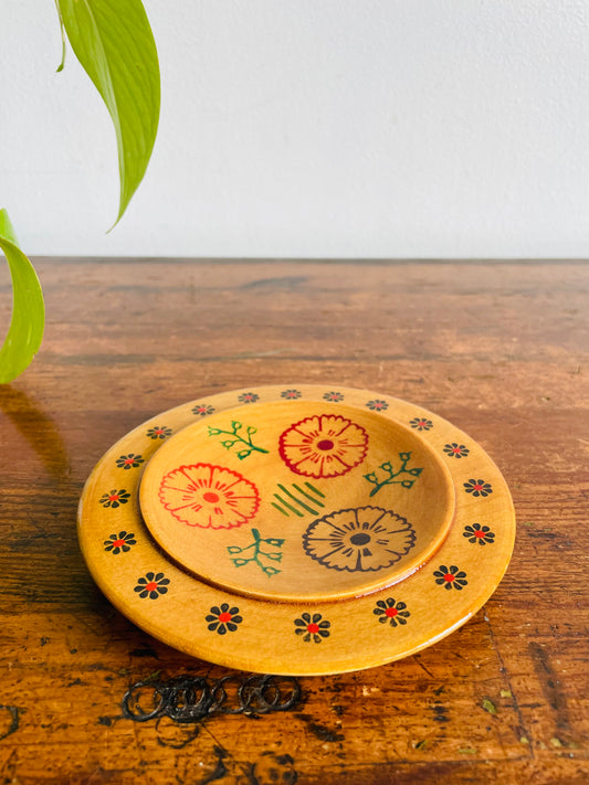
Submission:
M 0 248 L 12 277 L 12 319 L 0 349 L 0 383 L 11 382 L 33 359 L 43 340 L 45 306 L 33 265 L 19 248 L 6 210 L 0 210 Z

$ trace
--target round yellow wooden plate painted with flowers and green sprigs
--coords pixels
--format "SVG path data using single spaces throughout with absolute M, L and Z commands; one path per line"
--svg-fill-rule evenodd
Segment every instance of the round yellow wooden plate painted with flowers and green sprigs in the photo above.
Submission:
M 515 518 L 496 466 L 433 414 L 366 390 L 264 386 L 151 418 L 84 488 L 102 591 L 213 662 L 335 673 L 419 651 L 499 583 Z

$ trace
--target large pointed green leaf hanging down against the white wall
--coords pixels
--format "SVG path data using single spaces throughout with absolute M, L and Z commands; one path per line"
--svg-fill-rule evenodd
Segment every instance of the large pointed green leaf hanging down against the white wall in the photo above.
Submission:
M 141 182 L 159 120 L 156 42 L 140 0 L 56 0 L 74 53 L 115 126 L 118 223 Z

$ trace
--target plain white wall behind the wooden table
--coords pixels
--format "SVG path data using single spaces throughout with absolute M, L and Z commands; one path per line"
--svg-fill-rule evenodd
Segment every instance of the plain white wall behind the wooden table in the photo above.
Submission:
M 53 0 L 0 2 L 0 206 L 30 254 L 589 256 L 587 0 L 146 0 L 162 108 L 116 142 Z

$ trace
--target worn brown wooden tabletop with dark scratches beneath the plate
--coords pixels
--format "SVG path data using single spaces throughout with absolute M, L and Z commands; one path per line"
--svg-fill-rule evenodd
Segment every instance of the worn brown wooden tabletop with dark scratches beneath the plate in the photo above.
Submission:
M 2 783 L 589 781 L 587 264 L 36 267 L 44 343 L 0 388 Z M 351 675 L 264 681 L 116 612 L 81 556 L 76 505 L 101 455 L 154 414 L 297 382 L 381 391 L 466 431 L 511 486 L 518 537 L 492 600 L 438 645 Z M 217 701 L 187 718 L 190 689 Z M 167 712 L 138 722 L 154 693 Z

